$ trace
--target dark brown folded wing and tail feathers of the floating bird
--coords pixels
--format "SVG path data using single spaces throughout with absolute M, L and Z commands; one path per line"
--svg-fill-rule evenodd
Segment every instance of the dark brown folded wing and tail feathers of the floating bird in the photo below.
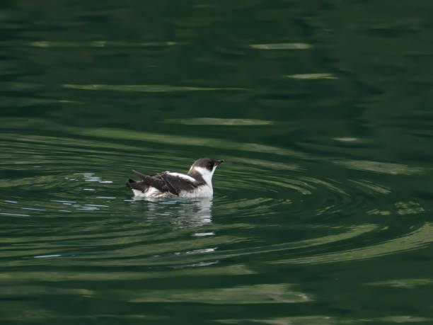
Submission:
M 200 185 L 199 182 L 189 181 L 185 178 L 173 176 L 167 171 L 157 173 L 154 176 L 144 175 L 144 173 L 140 173 L 139 171 L 132 172 L 142 178 L 142 181 L 136 182 L 129 179 L 127 187 L 141 190 L 142 192 L 147 190 L 149 186 L 152 186 L 161 192 L 170 192 L 174 195 L 179 195 L 181 190 L 194 190 L 198 185 Z

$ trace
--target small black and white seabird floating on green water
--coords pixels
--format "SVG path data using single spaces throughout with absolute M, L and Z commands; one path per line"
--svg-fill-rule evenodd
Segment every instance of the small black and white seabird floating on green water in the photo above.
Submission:
M 129 178 L 127 187 L 139 198 L 169 198 L 180 196 L 184 198 L 209 198 L 214 195 L 212 176 L 215 169 L 224 160 L 209 158 L 197 159 L 188 173 L 173 173 L 163 171 L 154 176 L 133 171 L 142 181 Z

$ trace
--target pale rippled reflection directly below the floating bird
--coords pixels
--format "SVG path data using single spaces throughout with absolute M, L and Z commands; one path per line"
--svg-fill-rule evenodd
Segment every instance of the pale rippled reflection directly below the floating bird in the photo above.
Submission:
M 169 219 L 174 229 L 212 224 L 212 198 L 146 198 L 146 217 L 151 222 Z

